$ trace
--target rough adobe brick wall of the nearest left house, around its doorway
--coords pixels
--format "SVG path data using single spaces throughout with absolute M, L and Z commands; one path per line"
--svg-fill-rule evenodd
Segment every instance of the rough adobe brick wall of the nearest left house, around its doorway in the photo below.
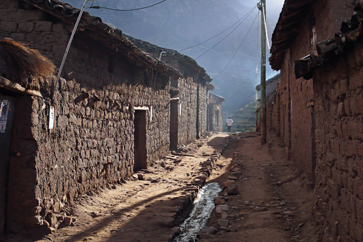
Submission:
M 0 37 L 33 43 L 32 47 L 56 65 L 69 36 L 63 23 L 39 10 L 19 9 L 15 0 L 0 5 Z M 64 203 L 79 194 L 130 176 L 134 106 L 149 108 L 148 164 L 169 152 L 169 79 L 158 75 L 153 89 L 150 83 L 155 72 L 113 54 L 76 33 L 63 69 L 65 81 L 60 82 L 55 95 L 56 128 L 52 134 L 47 130 L 49 99 L 19 100 L 13 148 L 24 155 L 11 161 L 8 230 L 19 231 L 19 224 L 41 225 L 50 212 L 61 211 Z M 43 91 L 48 87 L 44 84 Z M 84 93 L 89 97 L 82 99 Z M 24 201 L 21 207 L 19 200 Z

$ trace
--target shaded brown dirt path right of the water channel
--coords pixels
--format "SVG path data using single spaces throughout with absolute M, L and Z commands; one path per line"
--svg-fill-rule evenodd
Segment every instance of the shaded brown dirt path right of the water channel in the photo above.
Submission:
M 208 180 L 222 183 L 224 191 L 200 242 L 316 241 L 313 184 L 286 160 L 278 138 L 261 146 L 255 133 L 234 135 L 223 155 L 233 160 Z

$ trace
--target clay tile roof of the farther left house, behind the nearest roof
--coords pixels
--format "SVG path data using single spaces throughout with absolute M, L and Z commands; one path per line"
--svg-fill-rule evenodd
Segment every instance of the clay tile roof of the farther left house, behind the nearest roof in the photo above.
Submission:
M 161 51 L 165 51 L 166 55 L 170 55 L 173 56 L 179 60 L 183 60 L 185 61 L 187 64 L 189 64 L 189 66 L 193 67 L 194 69 L 196 69 L 199 73 L 199 75 L 202 77 L 202 79 L 204 79 L 206 82 L 211 82 L 212 78 L 206 73 L 205 69 L 203 67 L 201 67 L 200 65 L 198 65 L 197 61 L 195 61 L 193 58 L 187 56 L 187 55 L 183 55 L 181 53 L 179 53 L 178 51 L 174 50 L 174 49 L 168 49 L 168 48 L 163 48 L 160 47 L 158 45 L 153 45 L 149 42 L 146 41 L 142 41 L 139 39 L 136 39 L 130 35 L 127 35 L 125 33 L 123 33 L 123 35 L 132 43 L 134 43 L 135 45 L 137 45 L 138 47 L 144 47 L 144 48 L 148 48 L 148 49 L 152 49 L 152 50 L 156 50 L 158 52 L 161 53 Z

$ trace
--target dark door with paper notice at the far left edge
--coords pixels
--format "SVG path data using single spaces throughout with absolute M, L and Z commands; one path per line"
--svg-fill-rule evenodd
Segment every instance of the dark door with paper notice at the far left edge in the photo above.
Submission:
M 0 240 L 5 231 L 14 106 L 14 97 L 0 95 Z

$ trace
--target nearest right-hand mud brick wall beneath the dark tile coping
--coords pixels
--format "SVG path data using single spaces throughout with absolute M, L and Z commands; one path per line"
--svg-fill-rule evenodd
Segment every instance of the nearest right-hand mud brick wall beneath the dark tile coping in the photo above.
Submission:
M 323 241 L 363 241 L 363 48 L 316 71 L 314 216 Z

